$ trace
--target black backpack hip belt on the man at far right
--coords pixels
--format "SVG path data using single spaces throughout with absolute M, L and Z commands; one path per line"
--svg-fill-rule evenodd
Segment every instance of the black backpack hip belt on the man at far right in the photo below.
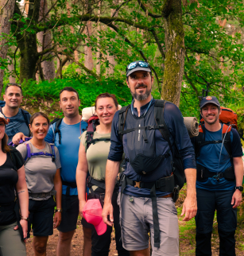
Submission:
M 235 180 L 234 169 L 232 166 L 225 169 L 223 173 L 210 172 L 207 168 L 203 167 L 203 165 L 196 165 L 196 170 L 196 180 L 198 181 L 203 181 L 207 178 L 215 178 L 218 181 L 221 178 L 225 178 L 228 181 Z

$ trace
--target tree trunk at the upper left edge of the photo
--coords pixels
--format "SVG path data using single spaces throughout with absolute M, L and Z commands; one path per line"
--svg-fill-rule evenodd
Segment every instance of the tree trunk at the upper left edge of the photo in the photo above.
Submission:
M 2 33 L 10 34 L 10 19 L 14 14 L 15 0 L 1 0 L 0 1 L 0 36 Z M 6 39 L 0 40 L 0 59 L 6 59 L 8 46 Z M 0 69 L 0 95 L 2 93 L 3 69 Z

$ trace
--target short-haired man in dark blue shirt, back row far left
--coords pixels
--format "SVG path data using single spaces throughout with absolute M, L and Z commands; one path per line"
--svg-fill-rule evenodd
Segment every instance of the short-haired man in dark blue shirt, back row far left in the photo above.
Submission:
M 6 104 L 5 107 L 0 107 L 0 112 L 9 120 L 9 124 L 6 126 L 6 134 L 9 137 L 8 143 L 12 142 L 14 135 L 19 132 L 29 137 L 29 118 L 31 115 L 28 111 L 20 108 L 23 99 L 21 84 L 8 83 L 3 99 Z

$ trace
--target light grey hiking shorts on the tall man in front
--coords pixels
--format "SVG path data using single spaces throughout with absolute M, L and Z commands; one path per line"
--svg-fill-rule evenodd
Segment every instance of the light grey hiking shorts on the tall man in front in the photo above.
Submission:
M 120 204 L 121 203 L 121 204 Z M 144 250 L 149 247 L 151 234 L 152 256 L 179 256 L 179 227 L 175 204 L 172 198 L 157 197 L 157 212 L 160 229 L 160 247 L 154 244 L 152 200 L 118 194 L 122 243 L 126 250 Z

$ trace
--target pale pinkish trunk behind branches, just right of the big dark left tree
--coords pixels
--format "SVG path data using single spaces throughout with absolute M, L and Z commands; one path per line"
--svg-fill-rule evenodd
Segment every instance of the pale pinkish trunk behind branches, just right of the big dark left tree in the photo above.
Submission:
M 39 11 L 39 19 L 43 18 L 44 21 L 47 17 L 45 17 L 45 14 L 48 12 L 48 2 L 47 0 L 41 0 L 40 3 L 40 11 Z M 47 48 L 52 47 L 52 34 L 50 31 L 42 31 L 40 33 L 37 33 L 37 40 L 39 41 L 38 45 L 38 52 L 42 52 Z M 48 53 L 42 58 L 46 57 L 52 57 L 52 53 Z M 53 80 L 55 78 L 55 65 L 54 60 L 45 60 L 41 63 L 41 68 L 43 70 L 43 74 L 45 77 L 45 80 Z

